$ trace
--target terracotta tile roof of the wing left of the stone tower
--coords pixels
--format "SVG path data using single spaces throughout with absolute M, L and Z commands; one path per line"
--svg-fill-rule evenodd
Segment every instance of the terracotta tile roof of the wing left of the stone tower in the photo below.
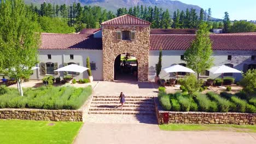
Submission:
M 85 34 L 41 34 L 40 49 L 102 50 L 102 39 Z

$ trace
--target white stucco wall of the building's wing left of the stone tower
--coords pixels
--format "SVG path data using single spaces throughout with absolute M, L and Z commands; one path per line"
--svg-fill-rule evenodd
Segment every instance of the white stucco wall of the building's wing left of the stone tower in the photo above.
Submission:
M 51 59 L 48 59 L 47 55 L 51 55 Z M 70 55 L 74 55 L 74 59 L 70 59 Z M 102 50 L 39 50 L 39 62 L 53 62 L 58 63 L 59 68 L 62 67 L 63 63 L 79 63 L 83 67 L 86 67 L 86 58 L 90 57 L 90 62 L 96 63 L 96 70 L 91 70 L 94 80 L 103 80 L 102 73 Z M 39 67 L 39 64 L 38 64 Z M 34 70 L 33 75 L 30 79 L 43 79 L 45 75 L 42 74 L 40 69 Z M 59 72 L 58 75 L 53 75 L 54 77 L 63 78 L 63 73 Z M 88 78 L 87 71 L 74 76 L 74 79 L 84 79 Z

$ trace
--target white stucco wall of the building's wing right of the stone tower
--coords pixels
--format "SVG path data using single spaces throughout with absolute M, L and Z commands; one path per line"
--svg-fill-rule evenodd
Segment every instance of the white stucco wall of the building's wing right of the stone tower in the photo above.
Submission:
M 185 63 L 181 60 L 181 55 L 184 54 L 185 51 L 174 51 L 174 50 L 168 50 L 168 51 L 162 51 L 162 69 L 169 67 L 172 64 L 179 64 L 179 63 Z M 231 61 L 228 60 L 228 55 L 232 56 Z M 256 55 L 256 51 L 214 51 L 213 57 L 214 57 L 214 66 L 224 65 L 224 64 L 233 64 L 235 69 L 243 70 L 244 64 L 256 64 L 256 61 L 252 61 L 251 57 L 252 55 Z M 159 57 L 159 51 L 149 51 L 149 69 L 150 67 L 155 68 L 155 64 L 158 63 L 158 57 Z M 150 71 L 149 71 L 150 74 Z M 156 73 L 154 75 L 149 75 L 148 79 L 149 81 L 154 81 Z M 210 73 L 210 76 L 200 76 L 200 79 L 208 79 L 208 78 L 216 78 L 220 76 L 219 74 L 212 74 Z M 236 78 L 236 80 L 240 80 L 242 75 L 241 74 L 233 74 L 233 77 Z M 176 78 L 176 76 L 172 74 L 165 73 L 164 70 L 160 73 L 161 79 L 170 79 L 171 77 Z

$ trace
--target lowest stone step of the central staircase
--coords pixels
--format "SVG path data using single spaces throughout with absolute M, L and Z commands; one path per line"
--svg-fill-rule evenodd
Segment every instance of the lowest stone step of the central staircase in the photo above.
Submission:
M 89 111 L 89 114 L 155 115 L 151 111 Z

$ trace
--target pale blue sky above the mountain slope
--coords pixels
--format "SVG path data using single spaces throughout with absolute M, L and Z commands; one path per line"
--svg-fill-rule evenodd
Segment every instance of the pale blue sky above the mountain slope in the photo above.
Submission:
M 186 4 L 212 9 L 212 16 L 222 19 L 228 11 L 231 20 L 256 20 L 256 0 L 179 0 Z

